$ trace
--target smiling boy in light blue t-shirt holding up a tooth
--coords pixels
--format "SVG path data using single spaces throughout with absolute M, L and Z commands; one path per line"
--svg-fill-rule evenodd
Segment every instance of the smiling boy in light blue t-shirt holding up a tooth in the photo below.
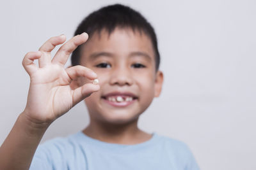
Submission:
M 184 143 L 138 129 L 139 116 L 163 84 L 156 34 L 147 20 L 116 4 L 91 13 L 75 34 L 52 60 L 64 35 L 24 57 L 28 101 L 1 146 L 0 169 L 199 169 Z M 64 69 L 70 53 L 72 67 Z M 47 127 L 82 100 L 88 127 L 37 148 Z

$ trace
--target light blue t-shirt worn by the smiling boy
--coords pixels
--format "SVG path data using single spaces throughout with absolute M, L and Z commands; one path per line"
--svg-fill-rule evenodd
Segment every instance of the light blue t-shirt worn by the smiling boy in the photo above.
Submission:
M 188 146 L 153 133 L 136 145 L 106 143 L 77 132 L 39 145 L 29 170 L 198 170 Z

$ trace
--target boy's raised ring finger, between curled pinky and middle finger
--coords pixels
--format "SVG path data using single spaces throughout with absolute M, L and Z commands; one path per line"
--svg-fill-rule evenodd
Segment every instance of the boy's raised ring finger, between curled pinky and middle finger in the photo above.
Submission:
M 54 36 L 48 39 L 44 45 L 39 48 L 40 52 L 43 52 L 44 55 L 38 60 L 39 67 L 44 67 L 47 64 L 51 63 L 51 51 L 55 48 L 56 45 L 60 45 L 66 41 L 65 35 Z

